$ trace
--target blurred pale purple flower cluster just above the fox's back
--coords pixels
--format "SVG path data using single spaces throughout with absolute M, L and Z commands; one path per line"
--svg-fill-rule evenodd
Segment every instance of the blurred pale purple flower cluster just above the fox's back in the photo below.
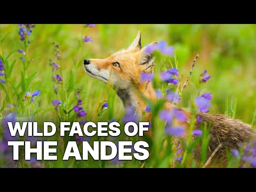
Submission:
M 198 111 L 201 113 L 209 113 L 209 107 L 211 106 L 212 93 L 204 93 L 199 97 L 196 97 L 195 104 L 197 106 Z

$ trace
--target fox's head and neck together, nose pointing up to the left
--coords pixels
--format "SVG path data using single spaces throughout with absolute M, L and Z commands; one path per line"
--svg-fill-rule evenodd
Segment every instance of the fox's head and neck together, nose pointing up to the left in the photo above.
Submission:
M 157 43 L 150 45 L 154 44 Z M 118 51 L 106 59 L 84 59 L 84 68 L 89 76 L 113 85 L 124 107 L 131 106 L 136 111 L 138 107 L 140 111 L 145 109 L 141 93 L 150 100 L 156 98 L 152 84 L 141 82 L 140 79 L 142 72 L 153 73 L 154 68 L 153 55 L 147 52 L 147 46 L 141 47 L 140 31 L 128 49 Z

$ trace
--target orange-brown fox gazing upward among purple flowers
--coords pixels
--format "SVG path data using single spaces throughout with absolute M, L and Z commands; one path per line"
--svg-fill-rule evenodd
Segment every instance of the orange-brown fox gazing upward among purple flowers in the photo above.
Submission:
M 154 44 L 157 44 L 157 42 L 150 45 Z M 132 106 L 138 114 L 141 114 L 147 106 L 146 102 L 141 99 L 141 94 L 151 101 L 156 100 L 153 84 L 140 81 L 140 74 L 142 72 L 153 73 L 155 65 L 153 55 L 145 50 L 146 47 L 141 47 L 141 33 L 139 31 L 128 49 L 118 51 L 106 59 L 84 59 L 86 73 L 102 82 L 110 82 L 114 89 L 117 89 L 117 95 L 122 100 L 124 107 Z M 172 103 L 165 103 L 165 109 L 170 110 L 173 107 L 175 105 Z M 183 111 L 188 119 L 191 118 L 190 111 L 186 109 L 179 110 Z M 249 141 L 256 135 L 251 125 L 238 119 L 219 114 L 200 115 L 202 116 L 202 122 L 211 123 L 209 156 L 218 148 L 217 153 L 216 151 L 214 153 L 214 159 L 218 160 L 222 157 L 225 159 L 226 148 L 229 150 L 239 149 L 242 142 Z M 150 122 L 150 119 L 151 113 L 148 113 L 143 121 Z M 175 124 L 186 127 L 187 134 L 184 136 L 186 139 L 189 123 L 177 121 Z M 194 129 L 200 129 L 200 124 L 197 123 Z M 151 131 L 149 131 L 149 135 L 152 136 Z M 199 149 L 195 150 L 195 158 L 199 161 Z

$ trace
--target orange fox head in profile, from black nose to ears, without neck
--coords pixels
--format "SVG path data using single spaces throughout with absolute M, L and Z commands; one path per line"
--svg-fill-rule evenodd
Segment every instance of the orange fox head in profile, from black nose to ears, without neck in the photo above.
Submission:
M 142 71 L 152 73 L 153 66 L 153 55 L 146 52 L 146 47 L 141 48 L 140 31 L 127 50 L 118 51 L 106 59 L 84 59 L 84 68 L 89 76 L 110 82 L 117 89 L 140 84 Z

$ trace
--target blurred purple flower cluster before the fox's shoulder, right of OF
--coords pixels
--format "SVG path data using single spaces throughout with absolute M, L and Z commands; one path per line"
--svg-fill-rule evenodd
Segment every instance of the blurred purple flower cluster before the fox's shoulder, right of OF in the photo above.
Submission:
M 159 114 L 159 117 L 165 121 L 166 134 L 171 134 L 174 137 L 181 137 L 185 134 L 185 127 L 183 126 L 173 126 L 173 119 L 177 119 L 179 122 L 186 122 L 188 121 L 186 115 L 180 110 L 179 108 L 173 108 L 172 110 L 162 110 Z

